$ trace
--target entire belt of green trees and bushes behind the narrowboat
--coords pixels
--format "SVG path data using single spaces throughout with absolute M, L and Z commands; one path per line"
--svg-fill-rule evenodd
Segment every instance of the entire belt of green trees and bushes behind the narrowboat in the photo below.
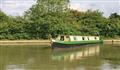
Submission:
M 69 7 L 69 0 L 38 0 L 24 16 L 0 11 L 0 39 L 47 39 L 61 34 L 120 36 L 120 15 L 108 18 L 99 10 L 81 12 Z

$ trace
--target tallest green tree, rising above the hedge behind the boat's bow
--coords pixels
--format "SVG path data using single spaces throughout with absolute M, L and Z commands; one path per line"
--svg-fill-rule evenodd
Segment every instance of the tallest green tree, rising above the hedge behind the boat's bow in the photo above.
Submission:
M 64 25 L 69 24 L 66 20 L 68 4 L 68 0 L 38 0 L 25 15 L 28 33 L 37 38 L 64 34 L 68 30 Z

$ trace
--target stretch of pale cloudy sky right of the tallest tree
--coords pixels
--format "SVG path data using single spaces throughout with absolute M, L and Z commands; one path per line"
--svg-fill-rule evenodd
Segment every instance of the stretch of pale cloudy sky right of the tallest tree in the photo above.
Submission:
M 74 6 L 77 4 L 76 6 Z M 100 10 L 104 12 L 104 16 L 109 16 L 111 13 L 120 14 L 120 0 L 71 0 L 71 8 L 79 11 L 88 9 Z

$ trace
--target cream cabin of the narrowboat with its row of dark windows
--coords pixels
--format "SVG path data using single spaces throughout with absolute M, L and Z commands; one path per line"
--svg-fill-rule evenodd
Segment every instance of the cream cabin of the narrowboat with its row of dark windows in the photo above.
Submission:
M 58 41 L 91 41 L 100 40 L 99 36 L 74 36 L 74 35 L 61 35 L 56 38 Z

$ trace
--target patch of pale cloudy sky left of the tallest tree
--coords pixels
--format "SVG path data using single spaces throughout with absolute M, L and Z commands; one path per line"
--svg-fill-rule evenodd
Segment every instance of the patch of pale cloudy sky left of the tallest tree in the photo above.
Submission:
M 34 3 L 34 0 L 2 0 L 1 9 L 8 15 L 23 15 Z

